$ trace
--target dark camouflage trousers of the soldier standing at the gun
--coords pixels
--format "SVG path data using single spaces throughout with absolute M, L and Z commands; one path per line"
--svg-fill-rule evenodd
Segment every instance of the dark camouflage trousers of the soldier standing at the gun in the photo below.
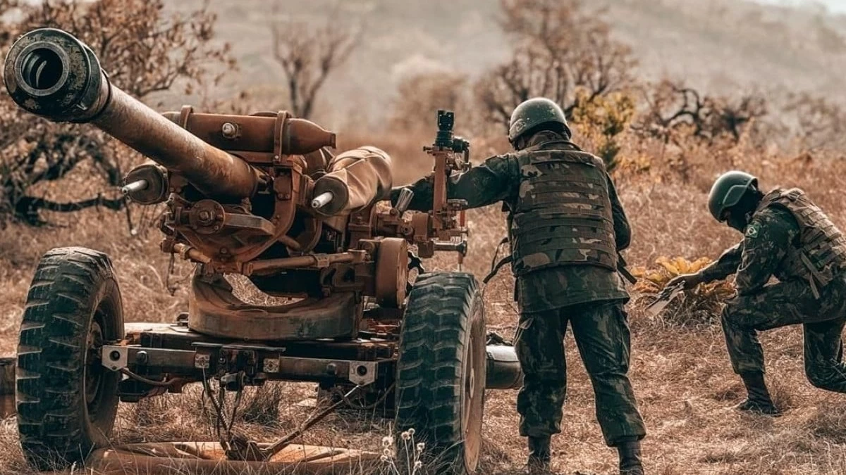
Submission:
M 567 394 L 564 334 L 571 325 L 596 396 L 596 418 L 607 445 L 646 434 L 629 377 L 629 322 L 618 302 L 593 302 L 521 314 L 514 344 L 523 369 L 517 396 L 520 435 L 561 432 Z

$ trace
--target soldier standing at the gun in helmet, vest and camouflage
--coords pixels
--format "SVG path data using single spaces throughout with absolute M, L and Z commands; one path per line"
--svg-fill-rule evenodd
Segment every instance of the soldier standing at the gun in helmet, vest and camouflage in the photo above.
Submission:
M 629 294 L 618 276 L 629 222 L 602 159 L 570 137 L 558 104 L 525 101 L 511 116 L 508 140 L 515 153 L 450 177 L 448 198 L 464 199 L 469 208 L 503 201 L 508 210 L 520 308 L 515 347 L 525 374 L 517 410 L 530 473 L 549 472 L 551 435 L 561 432 L 569 322 L 591 377 L 602 434 L 618 449 L 620 472 L 640 475 L 645 427 L 627 376 Z M 431 208 L 431 176 L 409 188 L 410 209 Z M 394 202 L 400 190 L 394 188 Z

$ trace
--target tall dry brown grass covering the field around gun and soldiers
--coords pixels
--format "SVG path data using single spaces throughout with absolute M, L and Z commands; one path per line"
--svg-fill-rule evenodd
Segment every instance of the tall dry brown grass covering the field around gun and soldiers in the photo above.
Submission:
M 344 148 L 372 143 L 392 154 L 396 183 L 407 183 L 426 173 L 431 164 L 420 150 L 429 137 L 343 136 Z M 626 142 L 629 144 L 629 142 Z M 633 143 L 633 142 L 632 142 Z M 502 140 L 482 145 L 475 141 L 477 158 L 503 150 Z M 719 149 L 691 146 L 662 150 L 660 145 L 627 145 L 621 152 L 645 156 L 649 166 L 640 172 L 621 171 L 619 193 L 634 228 L 626 257 L 632 265 L 653 265 L 660 256 L 716 258 L 739 235 L 713 221 L 706 210 L 706 194 L 713 177 L 739 167 L 757 173 L 764 187 L 800 186 L 810 193 L 842 227 L 843 182 L 846 161 L 837 156 L 766 153 L 745 143 Z M 61 195 L 62 190 L 47 190 Z M 137 225 L 151 210 L 132 208 Z M 49 227 L 9 224 L 0 230 L 0 350 L 14 353 L 25 293 L 39 256 L 49 248 L 81 245 L 112 256 L 124 293 L 129 321 L 173 319 L 186 307 L 185 282 L 180 276 L 190 266 L 177 263 L 169 279 L 175 292 L 165 290 L 168 258 L 157 249 L 158 235 L 144 227 L 129 232 L 124 214 L 85 210 L 67 216 L 49 216 Z M 484 276 L 496 243 L 503 236 L 503 216 L 496 206 L 469 215 L 470 254 L 466 269 Z M 449 255 L 426 262 L 431 269 L 454 269 Z M 513 336 L 516 308 L 511 300 L 514 281 L 503 270 L 486 286 L 488 326 Z M 846 397 L 817 390 L 806 382 L 802 365 L 802 336 L 798 328 L 766 332 L 761 336 L 769 369 L 768 379 L 777 403 L 788 407 L 782 418 L 757 418 L 728 407 L 739 402 L 744 390 L 731 372 L 722 331 L 718 325 L 650 319 L 643 312 L 648 301 L 634 296 L 629 305 L 633 350 L 631 379 L 640 401 L 649 435 L 644 443 L 651 473 L 817 474 L 846 472 Z M 683 322 L 682 322 L 683 323 Z M 563 433 L 553 439 L 553 467 L 560 472 L 611 473 L 616 468 L 613 450 L 602 443 L 595 420 L 590 381 L 571 339 L 569 398 Z M 310 413 L 299 401 L 313 396 L 313 385 L 280 384 L 253 395 L 239 429 L 260 440 L 284 434 Z M 524 441 L 517 434 L 515 391 L 491 391 L 486 401 L 482 472 L 519 470 Z M 267 417 L 267 416 L 270 417 Z M 376 413 L 338 412 L 305 434 L 306 443 L 379 450 L 389 423 Z M 168 395 L 137 405 L 120 407 L 114 442 L 178 439 L 213 440 L 211 415 L 201 404 L 199 388 L 183 395 Z M 14 419 L 0 423 L 0 472 L 25 473 L 16 442 Z

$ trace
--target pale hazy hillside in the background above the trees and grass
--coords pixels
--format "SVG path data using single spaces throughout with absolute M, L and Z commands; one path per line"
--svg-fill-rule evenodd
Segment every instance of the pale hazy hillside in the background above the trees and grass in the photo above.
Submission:
M 201 0 L 171 0 L 195 8 Z M 247 87 L 268 108 L 284 106 L 272 57 L 274 19 L 362 25 L 360 46 L 327 83 L 318 115 L 333 127 L 371 125 L 385 116 L 404 74 L 448 70 L 470 76 L 508 55 L 495 0 L 211 0 L 219 37 L 233 45 L 240 71 L 213 94 Z M 738 0 L 602 0 L 614 34 L 640 58 L 649 79 L 683 77 L 712 92 L 814 90 L 846 101 L 846 16 L 819 7 L 785 8 Z M 168 106 L 179 101 L 166 99 Z

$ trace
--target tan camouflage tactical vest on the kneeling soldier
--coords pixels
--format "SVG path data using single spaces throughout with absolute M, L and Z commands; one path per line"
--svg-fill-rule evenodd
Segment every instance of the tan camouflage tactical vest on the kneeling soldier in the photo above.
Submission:
M 755 212 L 768 206 L 788 210 L 799 223 L 799 241 L 788 248 L 775 276 L 779 281 L 804 279 L 819 298 L 819 289 L 826 287 L 846 268 L 846 238 L 799 188 L 772 190 Z

